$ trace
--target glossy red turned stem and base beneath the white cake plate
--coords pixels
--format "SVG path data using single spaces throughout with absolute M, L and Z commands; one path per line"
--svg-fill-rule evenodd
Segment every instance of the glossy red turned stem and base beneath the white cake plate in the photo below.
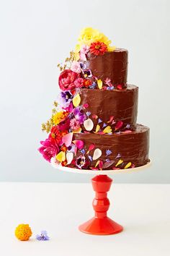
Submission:
M 79 226 L 79 230 L 86 234 L 96 235 L 109 235 L 121 232 L 123 229 L 122 226 L 107 217 L 107 210 L 109 209 L 107 192 L 111 187 L 112 179 L 107 175 L 97 175 L 91 179 L 91 182 L 96 192 L 93 200 L 95 216 Z

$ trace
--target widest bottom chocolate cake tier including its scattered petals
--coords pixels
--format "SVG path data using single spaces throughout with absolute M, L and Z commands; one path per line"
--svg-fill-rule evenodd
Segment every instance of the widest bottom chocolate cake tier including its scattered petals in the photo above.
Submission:
M 84 142 L 76 153 L 78 168 L 134 168 L 148 163 L 149 128 L 137 124 L 135 131 L 113 135 L 75 133 L 74 140 Z

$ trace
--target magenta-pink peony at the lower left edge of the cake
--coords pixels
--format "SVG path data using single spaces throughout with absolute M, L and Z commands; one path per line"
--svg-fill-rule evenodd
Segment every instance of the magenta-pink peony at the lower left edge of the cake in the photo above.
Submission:
M 45 141 L 41 141 L 40 143 L 42 147 L 38 149 L 39 152 L 42 154 L 45 160 L 50 162 L 50 159 L 53 158 L 53 156 L 57 155 L 59 152 L 57 142 L 46 139 Z

